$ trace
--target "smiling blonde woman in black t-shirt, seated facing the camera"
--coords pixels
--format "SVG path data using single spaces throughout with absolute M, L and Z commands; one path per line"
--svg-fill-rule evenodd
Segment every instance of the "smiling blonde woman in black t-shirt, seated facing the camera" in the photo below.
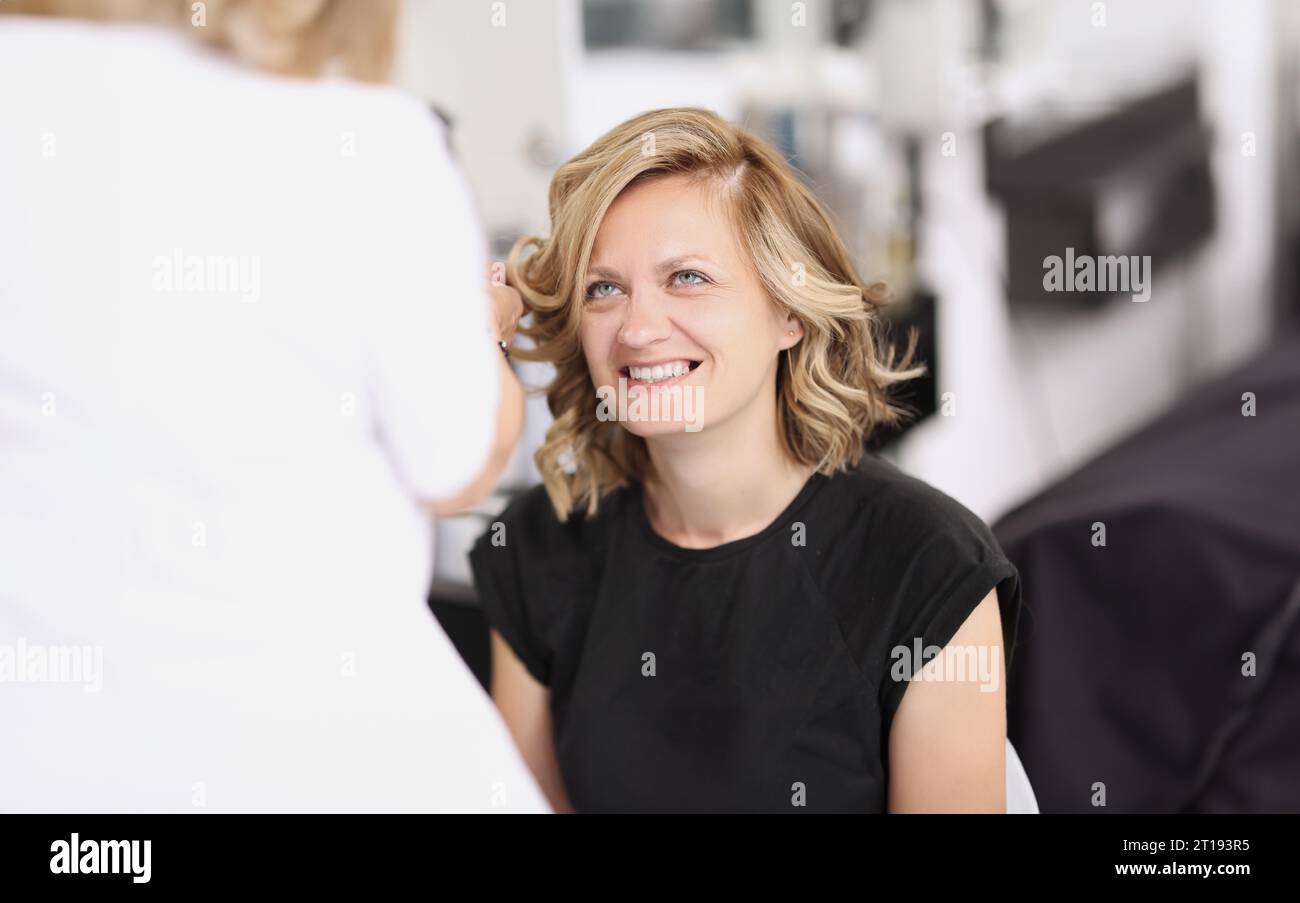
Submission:
M 551 226 L 510 261 L 555 365 L 543 485 L 471 561 L 555 808 L 1002 811 L 1018 576 L 863 455 L 923 368 L 812 194 L 754 135 L 658 110 L 556 173 Z M 702 429 L 611 417 L 614 385 L 698 394 Z

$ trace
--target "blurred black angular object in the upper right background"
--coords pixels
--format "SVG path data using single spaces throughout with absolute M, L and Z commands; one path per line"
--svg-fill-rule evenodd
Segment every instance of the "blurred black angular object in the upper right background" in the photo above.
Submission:
M 1046 291 L 1044 260 L 1150 256 L 1156 270 L 1214 229 L 1210 135 L 1195 75 L 1048 138 L 994 121 L 984 129 L 985 179 L 1006 208 L 1009 301 L 1098 307 L 1104 292 Z M 1101 227 L 1102 205 L 1128 208 Z

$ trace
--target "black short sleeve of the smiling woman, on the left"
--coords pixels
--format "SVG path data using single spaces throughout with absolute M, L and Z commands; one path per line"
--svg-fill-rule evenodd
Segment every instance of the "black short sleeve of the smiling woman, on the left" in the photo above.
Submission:
M 525 568 L 519 560 L 521 543 L 517 529 L 512 530 L 504 521 L 498 522 L 504 530 L 494 525 L 469 552 L 478 603 L 488 624 L 510 644 L 528 673 L 541 685 L 550 686 L 554 652 L 542 637 L 537 608 L 528 599 L 523 576 Z M 512 533 L 516 534 L 514 543 Z

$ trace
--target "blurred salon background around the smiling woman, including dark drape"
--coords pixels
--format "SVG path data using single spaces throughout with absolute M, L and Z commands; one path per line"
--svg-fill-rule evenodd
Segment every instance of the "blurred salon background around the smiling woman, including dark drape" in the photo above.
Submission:
M 1044 811 L 1300 808 L 1300 5 L 404 13 L 398 82 L 450 121 L 497 259 L 547 234 L 556 166 L 647 109 L 715 109 L 806 177 L 932 373 L 872 451 L 994 525 L 1026 578 L 1010 733 Z M 1149 256 L 1149 299 L 1045 291 L 1067 248 Z M 538 481 L 549 420 L 530 400 L 498 492 L 438 526 L 430 604 L 485 683 L 465 551 Z

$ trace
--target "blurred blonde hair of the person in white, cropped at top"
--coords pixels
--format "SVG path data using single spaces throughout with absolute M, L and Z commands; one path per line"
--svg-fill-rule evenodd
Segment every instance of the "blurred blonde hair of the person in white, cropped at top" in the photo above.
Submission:
M 0 12 L 173 25 L 286 75 L 338 66 L 382 82 L 396 47 L 398 0 L 0 0 Z

